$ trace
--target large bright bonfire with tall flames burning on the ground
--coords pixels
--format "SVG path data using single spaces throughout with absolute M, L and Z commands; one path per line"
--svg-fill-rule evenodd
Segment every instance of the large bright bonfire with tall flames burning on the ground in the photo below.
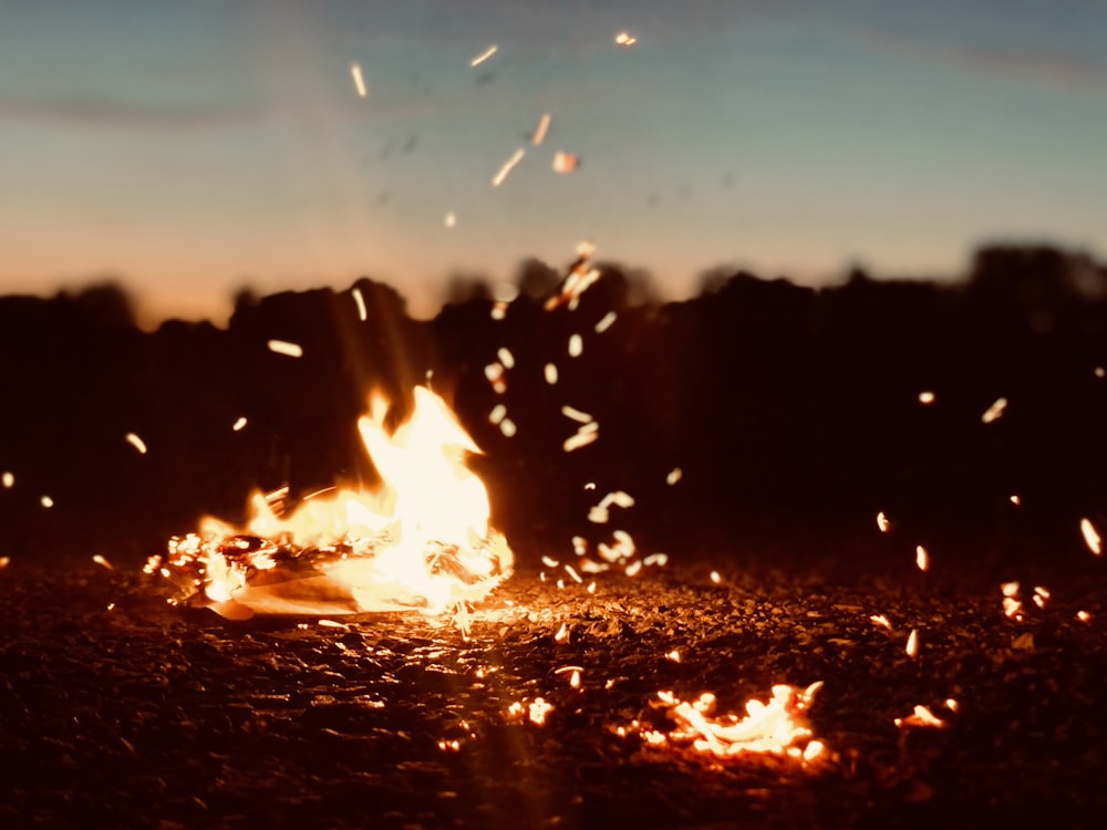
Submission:
M 288 516 L 275 508 L 287 488 L 256 494 L 245 528 L 204 519 L 146 572 L 231 619 L 451 611 L 465 630 L 468 604 L 510 575 L 514 557 L 464 463 L 480 450 L 442 398 L 418 386 L 414 400 L 411 419 L 391 434 L 383 398 L 359 422 L 381 474 L 376 490 L 327 490 Z

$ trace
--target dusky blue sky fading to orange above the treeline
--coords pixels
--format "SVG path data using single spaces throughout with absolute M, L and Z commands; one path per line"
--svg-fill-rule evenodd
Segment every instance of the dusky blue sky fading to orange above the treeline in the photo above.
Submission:
M 1105 148 L 1099 0 L 0 0 L 0 293 L 147 322 L 363 276 L 425 318 L 582 239 L 674 299 L 1101 259 Z

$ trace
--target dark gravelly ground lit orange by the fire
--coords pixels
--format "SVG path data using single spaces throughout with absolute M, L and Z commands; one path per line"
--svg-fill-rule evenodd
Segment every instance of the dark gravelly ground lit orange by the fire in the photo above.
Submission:
M 1022 581 L 1022 620 L 983 570 L 707 556 L 591 581 L 518 573 L 466 639 L 417 613 L 228 622 L 169 606 L 137 567 L 13 561 L 0 823 L 1100 826 L 1101 569 L 1052 578 L 1044 608 Z M 619 734 L 671 728 L 659 691 L 743 714 L 816 681 L 811 764 Z M 539 697 L 544 724 L 513 714 Z M 917 705 L 943 726 L 898 727 Z

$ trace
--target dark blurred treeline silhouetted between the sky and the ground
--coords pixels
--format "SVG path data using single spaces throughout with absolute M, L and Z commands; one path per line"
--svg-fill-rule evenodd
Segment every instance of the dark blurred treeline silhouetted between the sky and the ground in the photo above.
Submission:
M 503 319 L 474 297 L 428 322 L 371 280 L 244 294 L 226 330 L 170 321 L 144 333 L 111 286 L 0 299 L 0 556 L 139 557 L 203 513 L 240 520 L 255 488 L 372 483 L 356 432 L 369 392 L 397 401 L 400 418 L 428 372 L 486 450 L 474 464 L 524 557 L 613 528 L 671 553 L 851 556 L 850 540 L 879 537 L 879 510 L 911 549 L 1076 556 L 1079 519 L 1105 516 L 1107 271 L 1086 257 L 987 248 L 950 286 L 716 274 L 666 304 L 634 302 L 634 280 L 609 267 L 577 308 L 552 311 L 549 274 L 532 263 L 524 277 Z M 485 367 L 500 349 L 514 366 L 497 393 Z M 1006 409 L 984 424 L 1000 397 Z M 489 422 L 497 404 L 510 437 Z M 562 449 L 579 426 L 566 405 L 596 418 L 597 442 Z M 588 522 L 618 489 L 635 506 Z

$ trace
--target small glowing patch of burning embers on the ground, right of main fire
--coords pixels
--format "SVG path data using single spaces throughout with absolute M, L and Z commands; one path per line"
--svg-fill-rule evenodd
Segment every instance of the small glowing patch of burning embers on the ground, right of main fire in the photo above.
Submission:
M 669 733 L 632 725 L 651 746 L 691 744 L 699 753 L 716 758 L 735 758 L 748 753 L 778 755 L 800 762 L 813 761 L 827 755 L 823 741 L 815 739 L 807 712 L 823 682 L 805 689 L 786 684 L 773 686 L 769 702 L 749 701 L 746 716 L 714 717 L 715 696 L 703 694 L 694 702 L 681 701 L 672 692 L 659 692 L 660 705 L 675 722 Z M 627 729 L 618 729 L 621 735 Z

